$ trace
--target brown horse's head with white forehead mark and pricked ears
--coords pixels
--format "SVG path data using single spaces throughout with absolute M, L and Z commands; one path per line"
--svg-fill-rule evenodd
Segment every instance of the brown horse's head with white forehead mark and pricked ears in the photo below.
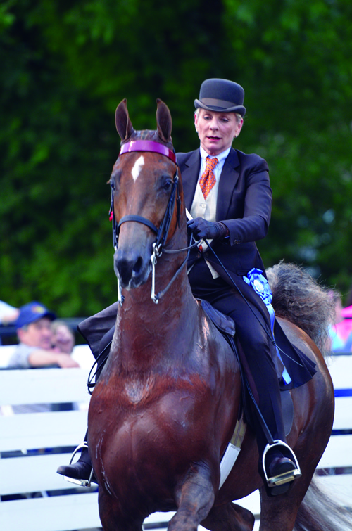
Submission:
M 116 227 L 114 269 L 120 286 L 127 289 L 146 282 L 153 243 L 170 241 L 180 214 L 170 110 L 161 100 L 157 104 L 156 131 L 134 131 L 126 100 L 115 114 L 122 143 L 110 179 Z

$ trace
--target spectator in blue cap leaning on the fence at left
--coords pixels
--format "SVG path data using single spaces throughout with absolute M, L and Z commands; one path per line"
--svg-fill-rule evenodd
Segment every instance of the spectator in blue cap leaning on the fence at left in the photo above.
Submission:
M 54 313 L 40 302 L 29 302 L 20 308 L 15 321 L 20 344 L 17 345 L 8 366 L 11 369 L 30 369 L 32 367 L 78 367 L 79 365 L 67 352 L 53 348 L 51 322 L 56 319 Z

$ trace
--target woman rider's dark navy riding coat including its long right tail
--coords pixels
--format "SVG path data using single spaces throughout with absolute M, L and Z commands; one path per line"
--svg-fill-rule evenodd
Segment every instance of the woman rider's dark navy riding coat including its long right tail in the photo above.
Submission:
M 185 205 L 190 211 L 201 167 L 199 148 L 189 153 L 177 153 L 177 163 L 182 176 Z M 263 276 L 266 277 L 256 240 L 264 238 L 268 233 L 271 207 L 272 190 L 267 162 L 259 155 L 246 155 L 231 148 L 222 167 L 216 207 L 216 221 L 227 226 L 230 236 L 213 241 L 211 244 L 227 272 L 220 266 L 211 250 L 207 249 L 203 257 L 231 287 L 234 281 L 244 297 L 265 317 L 269 328 L 268 309 L 243 277 L 253 268 L 263 271 Z M 189 257 L 189 266 L 193 265 L 196 268 L 200 260 L 202 260 L 201 253 L 194 250 Z M 253 326 L 255 325 L 254 322 Z M 315 373 L 314 364 L 289 342 L 277 320 L 275 320 L 274 334 L 277 345 L 288 354 L 284 363 L 292 378 L 289 387 L 298 387 L 306 383 Z

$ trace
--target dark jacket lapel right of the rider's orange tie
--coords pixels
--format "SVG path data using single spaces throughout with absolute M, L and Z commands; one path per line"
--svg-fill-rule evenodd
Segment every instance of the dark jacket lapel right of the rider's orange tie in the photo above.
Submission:
M 237 151 L 231 148 L 227 155 L 219 181 L 218 200 L 216 205 L 216 219 L 227 219 L 227 212 L 230 208 L 232 194 L 234 193 L 234 186 L 239 178 L 237 167 L 239 166 L 239 158 Z

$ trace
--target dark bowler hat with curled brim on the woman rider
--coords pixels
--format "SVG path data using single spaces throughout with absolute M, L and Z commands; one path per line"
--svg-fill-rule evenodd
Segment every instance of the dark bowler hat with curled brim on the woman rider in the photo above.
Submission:
M 206 79 L 201 84 L 199 100 L 194 100 L 196 108 L 215 110 L 218 113 L 239 113 L 244 116 L 244 89 L 228 79 Z

